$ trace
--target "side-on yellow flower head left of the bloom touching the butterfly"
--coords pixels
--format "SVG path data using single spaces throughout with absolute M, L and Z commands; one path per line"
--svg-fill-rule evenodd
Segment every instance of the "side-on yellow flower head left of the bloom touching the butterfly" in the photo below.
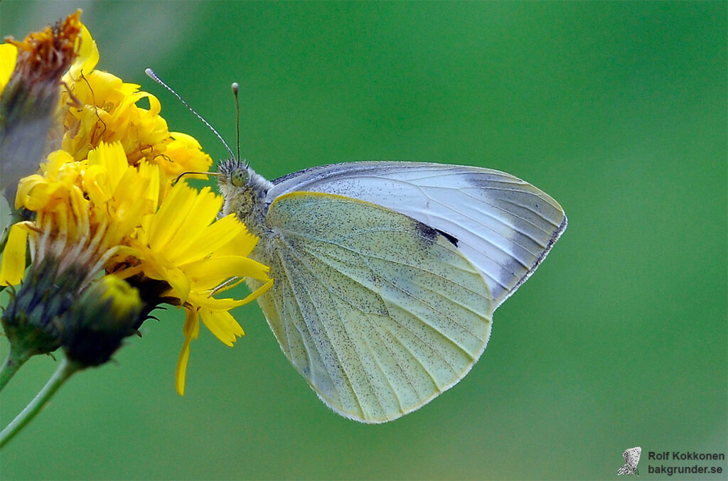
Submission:
M 41 171 L 21 180 L 15 201 L 15 207 L 36 212 L 36 219 L 12 229 L 29 231 L 36 266 L 49 255 L 59 258 L 59 271 L 82 266 L 85 286 L 128 242 L 140 220 L 154 214 L 157 167 L 136 169 L 127 163 L 121 145 L 102 143 L 82 162 L 74 162 L 65 151 L 52 152 Z M 22 247 L 6 248 L 3 272 L 6 262 L 17 266 L 25 258 Z M 17 279 L 17 272 L 8 274 Z M 0 283 L 8 285 L 12 279 L 0 277 Z

